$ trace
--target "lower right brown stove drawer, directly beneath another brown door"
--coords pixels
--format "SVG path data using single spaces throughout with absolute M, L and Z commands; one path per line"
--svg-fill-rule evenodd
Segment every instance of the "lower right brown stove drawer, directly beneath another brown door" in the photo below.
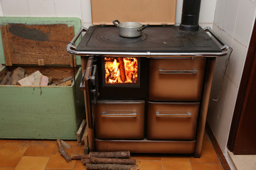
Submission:
M 200 103 L 149 102 L 149 140 L 194 140 Z

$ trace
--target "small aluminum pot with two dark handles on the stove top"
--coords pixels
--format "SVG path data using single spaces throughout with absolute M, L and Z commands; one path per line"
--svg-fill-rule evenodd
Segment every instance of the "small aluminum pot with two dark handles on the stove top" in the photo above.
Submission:
M 118 20 L 114 20 L 113 23 L 119 28 L 119 35 L 124 38 L 137 38 L 142 35 L 142 30 L 149 26 L 149 23 L 143 26 L 142 23 L 120 23 Z

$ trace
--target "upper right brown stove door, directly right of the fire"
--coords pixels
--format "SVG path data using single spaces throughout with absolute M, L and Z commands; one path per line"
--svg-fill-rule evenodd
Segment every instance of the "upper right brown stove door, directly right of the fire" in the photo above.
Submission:
M 200 101 L 206 58 L 152 59 L 149 63 L 151 101 Z

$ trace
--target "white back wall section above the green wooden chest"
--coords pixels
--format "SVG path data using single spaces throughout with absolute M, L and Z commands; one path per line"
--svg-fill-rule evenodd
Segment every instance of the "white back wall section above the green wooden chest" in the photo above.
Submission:
M 78 17 L 92 23 L 90 0 L 1 0 L 0 16 Z

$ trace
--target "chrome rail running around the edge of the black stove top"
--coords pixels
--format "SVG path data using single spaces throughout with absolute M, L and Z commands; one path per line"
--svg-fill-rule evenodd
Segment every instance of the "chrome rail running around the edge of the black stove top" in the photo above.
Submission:
M 220 47 L 222 52 L 95 52 L 95 51 L 77 51 L 75 46 L 75 41 L 78 40 L 78 37 L 82 32 L 86 32 L 87 28 L 81 27 L 75 37 L 68 43 L 66 49 L 70 54 L 73 55 L 118 55 L 118 56 L 127 56 L 127 55 L 136 55 L 137 57 L 150 57 L 150 58 L 168 58 L 168 57 L 220 57 L 225 55 L 230 55 L 232 48 L 229 45 L 226 45 L 223 40 L 221 40 L 218 35 L 216 35 L 210 27 L 204 28 L 205 31 L 208 31 L 213 37 L 220 42 Z

